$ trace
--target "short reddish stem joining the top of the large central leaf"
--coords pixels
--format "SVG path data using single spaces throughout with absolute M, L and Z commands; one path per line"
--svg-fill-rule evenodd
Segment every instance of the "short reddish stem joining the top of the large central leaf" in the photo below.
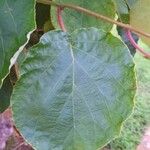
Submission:
M 65 28 L 65 25 L 64 25 L 64 22 L 63 22 L 63 18 L 62 18 L 62 11 L 63 11 L 62 7 L 57 7 L 57 20 L 58 20 L 58 24 L 59 24 L 60 28 L 64 32 L 66 32 L 66 28 Z

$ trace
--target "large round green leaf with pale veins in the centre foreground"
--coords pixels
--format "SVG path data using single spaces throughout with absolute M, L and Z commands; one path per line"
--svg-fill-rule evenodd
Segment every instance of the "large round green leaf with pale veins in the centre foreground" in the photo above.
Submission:
M 127 47 L 96 28 L 46 33 L 22 65 L 14 120 L 39 150 L 96 150 L 131 113 L 134 63 Z

